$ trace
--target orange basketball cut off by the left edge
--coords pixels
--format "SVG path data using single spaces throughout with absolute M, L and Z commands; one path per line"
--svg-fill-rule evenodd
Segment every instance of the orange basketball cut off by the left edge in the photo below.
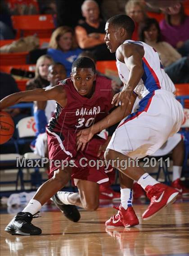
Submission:
M 14 121 L 9 113 L 0 111 L 0 144 L 8 142 L 14 133 Z

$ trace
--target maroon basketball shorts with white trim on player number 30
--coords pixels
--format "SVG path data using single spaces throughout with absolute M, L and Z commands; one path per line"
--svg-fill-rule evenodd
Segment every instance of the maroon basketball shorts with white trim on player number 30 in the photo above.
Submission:
M 76 133 L 52 133 L 47 131 L 49 149 L 50 176 L 54 171 L 72 167 L 72 180 L 83 179 L 95 183 L 110 185 L 115 176 L 111 165 L 97 155 L 100 145 L 106 141 L 99 136 L 94 136 L 85 146 L 84 151 L 77 151 Z

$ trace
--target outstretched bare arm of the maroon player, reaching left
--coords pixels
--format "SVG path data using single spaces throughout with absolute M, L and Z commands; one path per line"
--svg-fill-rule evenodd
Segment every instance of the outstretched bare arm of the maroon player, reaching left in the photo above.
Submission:
M 66 104 L 66 93 L 61 85 L 51 87 L 50 89 L 35 89 L 31 91 L 20 91 L 4 97 L 0 101 L 0 109 L 3 110 L 12 105 L 23 101 L 48 101 L 54 100 L 62 106 Z

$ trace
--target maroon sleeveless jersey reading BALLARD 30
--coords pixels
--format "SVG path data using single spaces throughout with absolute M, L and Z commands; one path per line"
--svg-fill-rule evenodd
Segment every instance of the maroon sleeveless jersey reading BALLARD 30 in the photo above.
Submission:
M 95 91 L 91 98 L 81 96 L 75 89 L 71 78 L 60 82 L 67 94 L 67 105 L 62 108 L 58 103 L 47 129 L 51 133 L 65 137 L 67 131 L 76 133 L 90 127 L 108 115 L 112 108 L 111 80 L 97 76 Z

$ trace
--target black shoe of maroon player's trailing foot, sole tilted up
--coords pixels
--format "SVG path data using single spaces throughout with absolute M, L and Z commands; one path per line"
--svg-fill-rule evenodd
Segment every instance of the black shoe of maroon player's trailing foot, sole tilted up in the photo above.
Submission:
M 58 199 L 57 194 L 51 197 L 51 200 L 62 211 L 62 213 L 66 216 L 67 219 L 73 222 L 77 222 L 80 220 L 81 216 L 76 206 L 65 205 Z

